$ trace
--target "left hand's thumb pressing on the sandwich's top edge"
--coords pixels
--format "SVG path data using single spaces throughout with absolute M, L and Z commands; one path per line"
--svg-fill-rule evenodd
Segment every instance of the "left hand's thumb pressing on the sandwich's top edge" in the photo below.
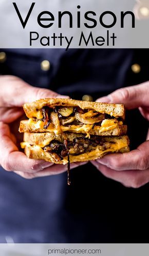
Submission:
M 10 77 L 9 77 L 10 79 Z M 48 89 L 36 88 L 30 86 L 28 83 L 24 82 L 21 79 L 16 77 L 11 77 L 11 80 L 6 80 L 1 78 L 1 84 L 4 83 L 4 86 L 1 90 L 1 100 L 0 107 L 22 107 L 26 102 L 30 103 L 34 100 L 41 98 L 56 98 L 60 97 L 60 94 L 53 92 Z M 13 86 L 12 86 L 13 83 Z M 6 85 L 5 85 L 6 84 Z M 61 95 L 62 98 L 67 97 L 65 95 Z

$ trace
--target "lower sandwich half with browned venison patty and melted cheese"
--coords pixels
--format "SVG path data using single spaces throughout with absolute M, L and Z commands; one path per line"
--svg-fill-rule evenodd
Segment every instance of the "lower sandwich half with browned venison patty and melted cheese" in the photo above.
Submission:
M 55 164 L 82 162 L 102 158 L 107 153 L 128 152 L 129 139 L 123 136 L 96 136 L 85 138 L 84 134 L 53 132 L 24 133 L 25 149 L 28 158 L 42 159 Z

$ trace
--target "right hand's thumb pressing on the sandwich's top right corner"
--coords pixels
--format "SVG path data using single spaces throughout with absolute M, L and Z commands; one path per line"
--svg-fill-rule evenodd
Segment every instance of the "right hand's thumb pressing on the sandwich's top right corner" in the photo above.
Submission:
M 124 104 L 127 109 L 134 109 L 141 106 L 149 106 L 148 96 L 149 82 L 145 82 L 138 86 L 118 89 L 105 97 L 97 99 L 97 101 Z

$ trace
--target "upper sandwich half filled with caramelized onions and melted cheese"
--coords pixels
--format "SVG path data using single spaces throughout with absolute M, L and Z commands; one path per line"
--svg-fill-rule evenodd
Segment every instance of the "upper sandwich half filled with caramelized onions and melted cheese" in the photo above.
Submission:
M 122 135 L 125 110 L 121 104 L 47 98 L 24 104 L 29 120 L 21 121 L 20 132 L 65 131 L 92 135 Z

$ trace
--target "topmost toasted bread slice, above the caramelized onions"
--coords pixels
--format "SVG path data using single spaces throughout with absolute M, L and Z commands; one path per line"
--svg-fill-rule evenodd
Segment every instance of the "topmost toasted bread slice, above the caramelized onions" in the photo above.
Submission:
M 92 109 L 99 113 L 105 113 L 114 117 L 124 118 L 125 110 L 122 104 L 107 104 L 99 102 L 90 102 L 74 99 L 46 98 L 39 99 L 33 103 L 23 105 L 24 111 L 28 118 L 42 118 L 42 108 L 48 106 L 55 107 L 80 107 L 81 109 Z

